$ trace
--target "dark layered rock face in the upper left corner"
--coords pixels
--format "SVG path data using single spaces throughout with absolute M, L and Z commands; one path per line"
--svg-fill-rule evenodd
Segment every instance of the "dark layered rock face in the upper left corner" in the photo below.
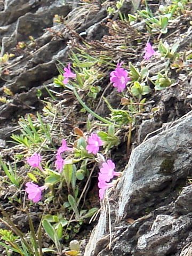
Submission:
M 67 58 L 66 51 L 63 51 L 67 46 L 65 39 L 54 37 L 47 28 L 52 27 L 55 33 L 62 33 L 66 28 L 53 23 L 54 15 L 65 17 L 72 6 L 72 2 L 62 4 L 61 1 L 50 0 L 4 2 L 4 10 L 0 12 L 1 56 L 12 53 L 15 57 L 1 65 L 0 97 L 5 96 L 4 87 L 13 93 L 9 102 L 0 102 L 1 124 L 9 117 L 17 118 L 21 108 L 22 114 L 29 109 L 35 110 L 37 89 L 46 94 L 43 83 L 49 87 L 48 80 L 58 74 L 56 61 Z M 29 41 L 29 36 L 34 38 L 34 42 Z M 23 49 L 17 47 L 20 42 L 26 45 Z M 29 43 L 31 45 L 27 47 Z

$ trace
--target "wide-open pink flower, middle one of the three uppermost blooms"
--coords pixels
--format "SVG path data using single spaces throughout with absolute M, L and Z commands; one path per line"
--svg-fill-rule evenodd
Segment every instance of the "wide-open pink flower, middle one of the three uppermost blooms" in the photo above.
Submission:
M 127 71 L 124 68 L 120 68 L 122 63 L 118 63 L 116 69 L 110 73 L 110 81 L 114 83 L 114 87 L 117 87 L 118 92 L 122 92 L 125 89 L 126 83 L 131 81 Z

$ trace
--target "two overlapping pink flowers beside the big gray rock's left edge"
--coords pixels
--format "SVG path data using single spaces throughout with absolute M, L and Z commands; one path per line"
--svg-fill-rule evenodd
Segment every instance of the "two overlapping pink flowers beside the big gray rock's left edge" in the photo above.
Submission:
M 107 162 L 102 164 L 102 167 L 99 172 L 98 177 L 98 187 L 99 187 L 99 198 L 100 200 L 103 199 L 103 196 L 105 194 L 105 190 L 107 188 L 111 188 L 114 186 L 113 182 L 109 182 L 110 179 L 112 179 L 114 176 L 119 176 L 120 172 L 115 172 L 115 164 L 110 159 L 107 160 Z M 108 183 L 109 182 L 109 183 Z

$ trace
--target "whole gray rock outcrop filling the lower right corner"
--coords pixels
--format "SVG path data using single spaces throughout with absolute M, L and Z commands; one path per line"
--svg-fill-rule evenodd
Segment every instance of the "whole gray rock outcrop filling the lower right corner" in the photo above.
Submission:
M 180 255 L 192 235 L 192 185 L 181 188 L 191 174 L 191 141 L 189 113 L 132 151 L 108 195 L 110 221 L 105 201 L 84 256 Z

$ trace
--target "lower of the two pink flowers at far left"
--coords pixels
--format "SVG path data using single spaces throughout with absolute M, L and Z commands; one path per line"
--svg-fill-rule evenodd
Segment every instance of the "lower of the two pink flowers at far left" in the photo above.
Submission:
M 29 199 L 33 200 L 34 203 L 41 200 L 42 190 L 45 189 L 46 186 L 39 187 L 38 185 L 31 182 L 27 182 L 25 186 Z

